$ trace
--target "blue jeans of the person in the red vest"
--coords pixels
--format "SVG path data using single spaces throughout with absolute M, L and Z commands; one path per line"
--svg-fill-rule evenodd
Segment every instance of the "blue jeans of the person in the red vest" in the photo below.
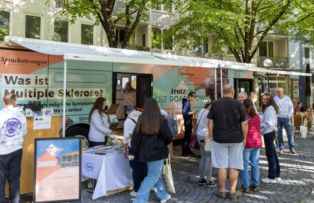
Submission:
M 243 187 L 248 187 L 250 185 L 249 161 L 251 164 L 252 184 L 258 186 L 260 184 L 260 148 L 244 148 L 243 150 L 243 170 L 240 171 L 240 178 Z

